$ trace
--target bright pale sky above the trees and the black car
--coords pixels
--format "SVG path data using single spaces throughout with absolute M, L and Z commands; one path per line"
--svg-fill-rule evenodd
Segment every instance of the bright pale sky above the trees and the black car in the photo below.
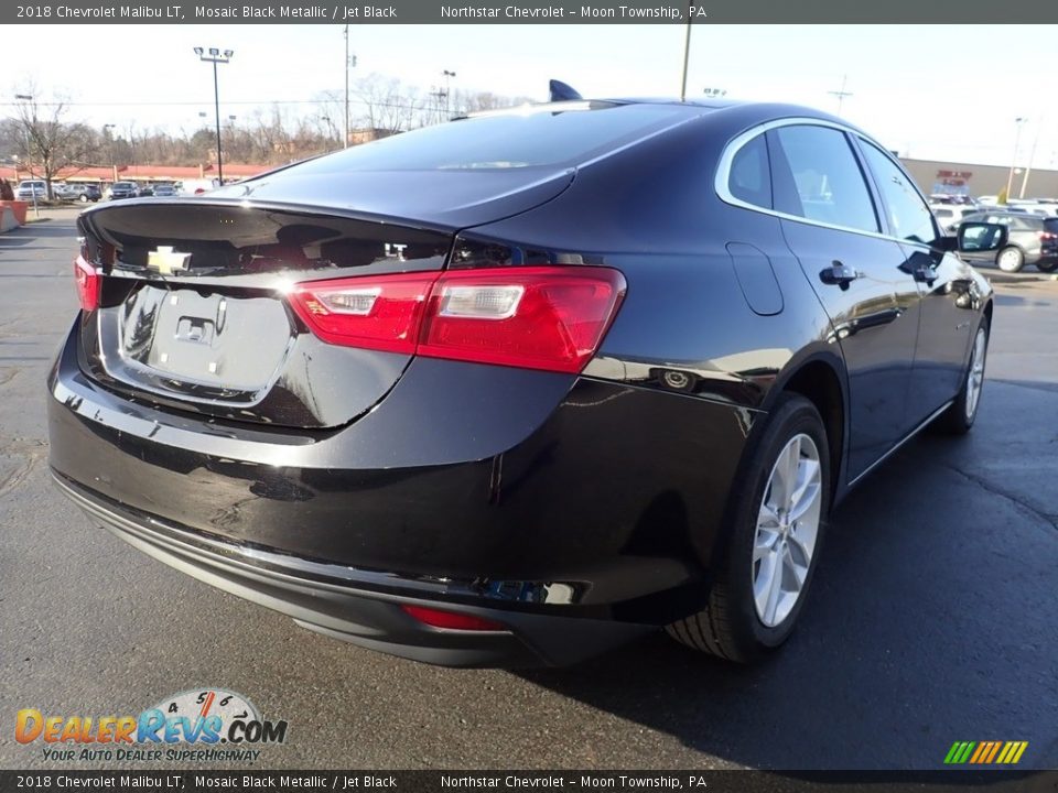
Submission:
M 18 35 L 10 35 L 12 33 Z M 323 91 L 344 88 L 343 26 L 20 25 L 4 36 L 0 108 L 31 82 L 39 99 L 64 95 L 69 120 L 128 134 L 192 130 L 213 118 L 213 75 L 192 48 L 235 51 L 220 66 L 222 118 L 272 102 L 320 115 Z M 941 25 L 695 25 L 688 95 L 780 100 L 842 116 L 902 155 L 1058 165 L 1055 28 Z M 557 77 L 585 97 L 678 96 L 684 28 L 671 25 L 363 25 L 350 28 L 353 80 L 371 73 L 422 90 L 455 72 L 453 88 L 544 99 Z M 7 83 L 4 85 L 3 83 Z M 353 108 L 356 113 L 356 107 Z M 236 121 L 239 123 L 240 121 Z M 0 152 L 2 154 L 2 152 Z

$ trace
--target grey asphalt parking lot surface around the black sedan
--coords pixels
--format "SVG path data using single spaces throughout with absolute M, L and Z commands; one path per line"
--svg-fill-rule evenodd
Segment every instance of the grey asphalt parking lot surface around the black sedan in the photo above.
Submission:
M 764 665 L 657 636 L 572 669 L 446 670 L 199 584 L 56 492 L 44 378 L 76 307 L 73 215 L 0 236 L 0 768 L 60 768 L 14 741 L 20 708 L 138 714 L 202 686 L 288 720 L 259 768 L 939 769 L 956 740 L 1058 768 L 1058 282 L 996 285 L 978 426 L 850 496 Z

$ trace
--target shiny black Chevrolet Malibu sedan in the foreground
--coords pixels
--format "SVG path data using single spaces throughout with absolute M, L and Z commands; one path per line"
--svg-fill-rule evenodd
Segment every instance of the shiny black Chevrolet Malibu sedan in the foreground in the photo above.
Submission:
M 535 106 L 79 225 L 58 487 L 450 665 L 778 647 L 833 504 L 973 424 L 993 311 L 887 151 L 779 105 Z

